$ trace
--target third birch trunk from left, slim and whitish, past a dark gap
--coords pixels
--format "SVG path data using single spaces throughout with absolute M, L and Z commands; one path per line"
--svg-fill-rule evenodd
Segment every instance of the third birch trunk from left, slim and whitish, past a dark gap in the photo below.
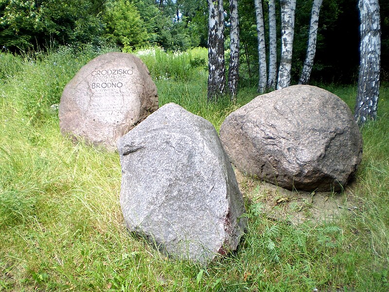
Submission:
M 257 36 L 258 36 L 258 61 L 259 61 L 258 92 L 264 93 L 267 84 L 267 73 L 266 73 L 265 25 L 264 25 L 264 13 L 262 10 L 262 0 L 254 0 L 254 4 L 255 4 L 255 13 L 257 16 Z

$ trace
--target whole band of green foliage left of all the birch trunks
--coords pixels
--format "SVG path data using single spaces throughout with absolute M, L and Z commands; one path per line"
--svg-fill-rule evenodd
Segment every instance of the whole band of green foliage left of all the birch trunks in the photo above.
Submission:
M 0 45 L 12 52 L 106 41 L 131 51 L 148 43 L 176 51 L 203 45 L 206 5 L 198 1 L 1 0 Z

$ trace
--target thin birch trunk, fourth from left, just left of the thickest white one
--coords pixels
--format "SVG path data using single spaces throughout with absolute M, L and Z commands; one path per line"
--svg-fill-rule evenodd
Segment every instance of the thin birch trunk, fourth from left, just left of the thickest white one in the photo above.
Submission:
M 269 77 L 267 88 L 276 88 L 277 78 L 277 34 L 276 34 L 276 2 L 269 0 Z

